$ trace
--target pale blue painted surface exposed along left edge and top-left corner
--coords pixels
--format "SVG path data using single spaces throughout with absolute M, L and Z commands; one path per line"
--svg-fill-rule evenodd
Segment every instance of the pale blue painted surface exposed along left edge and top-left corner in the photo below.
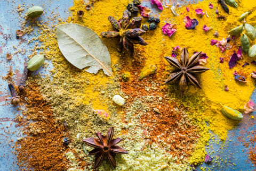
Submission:
M 27 1 L 9 1 L 0 0 L 0 170 L 19 170 L 15 165 L 15 155 L 14 150 L 11 146 L 14 145 L 11 141 L 17 141 L 18 137 L 21 137 L 21 133 L 19 131 L 20 127 L 15 127 L 17 123 L 14 122 L 15 115 L 20 115 L 20 110 L 17 110 L 17 107 L 13 107 L 10 104 L 11 93 L 8 88 L 8 82 L 2 79 L 2 76 L 6 76 L 10 67 L 14 73 L 13 81 L 14 83 L 18 83 L 20 79 L 20 74 L 23 72 L 23 64 L 25 61 L 28 61 L 27 55 L 31 54 L 29 49 L 34 46 L 34 43 L 30 46 L 27 43 L 20 43 L 20 39 L 16 39 L 15 31 L 20 29 L 19 23 L 25 21 L 24 19 L 20 20 L 18 17 L 18 13 L 16 11 L 17 6 L 25 2 L 25 12 L 27 11 L 27 7 L 31 7 L 34 5 L 42 6 L 45 10 L 44 14 L 38 18 L 38 21 L 48 21 L 47 16 L 51 16 L 51 12 L 54 11 L 60 14 L 61 18 L 65 19 L 69 16 L 68 8 L 73 5 L 72 0 L 61 0 L 61 1 L 39 1 L 39 0 L 27 0 Z M 25 12 L 22 14 L 24 15 Z M 47 12 L 47 14 L 46 14 Z M 52 21 L 49 21 L 50 23 Z M 58 22 L 58 21 L 57 21 Z M 9 36 L 7 40 L 4 39 L 5 36 Z M 23 39 L 31 39 L 38 35 L 25 35 L 22 36 Z M 18 53 L 17 55 L 13 55 L 11 61 L 7 61 L 6 54 L 13 54 L 17 49 L 13 48 L 18 47 L 18 49 L 26 49 L 27 52 L 25 55 L 21 55 Z M 52 66 L 47 67 L 49 70 Z M 40 73 L 47 74 L 43 69 L 39 71 Z M 15 75 L 17 73 L 17 75 Z M 36 73 L 35 73 L 36 74 Z M 5 101 L 7 99 L 7 101 Z M 7 127 L 6 127 L 7 126 Z M 13 132 L 13 134 L 12 134 Z M 14 164 L 13 164 L 14 162 Z

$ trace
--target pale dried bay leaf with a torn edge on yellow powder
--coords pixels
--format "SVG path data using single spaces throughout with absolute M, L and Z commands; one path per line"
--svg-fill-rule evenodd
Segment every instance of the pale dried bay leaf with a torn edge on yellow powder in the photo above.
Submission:
M 101 38 L 90 28 L 79 24 L 57 25 L 58 45 L 63 56 L 76 66 L 96 74 L 100 69 L 113 76 L 108 48 Z

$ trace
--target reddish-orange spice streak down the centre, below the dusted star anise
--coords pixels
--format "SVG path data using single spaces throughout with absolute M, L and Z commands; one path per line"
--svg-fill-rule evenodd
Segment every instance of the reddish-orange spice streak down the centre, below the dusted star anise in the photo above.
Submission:
M 135 54 L 138 54 L 135 53 Z M 167 96 L 167 88 L 163 84 L 163 80 L 166 79 L 164 61 L 158 64 L 157 73 L 159 75 L 151 75 L 143 80 L 139 80 L 139 73 L 143 67 L 145 57 L 134 57 L 132 66 L 124 66 L 122 72 L 130 71 L 132 78 L 129 82 L 120 80 L 121 89 L 130 98 L 126 102 L 126 106 L 130 106 L 132 102 L 138 97 L 155 96 L 162 97 L 162 104 L 158 100 L 151 102 L 147 101 L 147 105 L 150 108 L 157 108 L 161 114 L 157 114 L 154 110 L 142 114 L 141 123 L 145 127 L 144 134 L 146 139 L 149 139 L 149 144 L 156 143 L 159 147 L 165 149 L 166 152 L 170 152 L 173 156 L 177 156 L 180 160 L 181 156 L 187 158 L 191 155 L 196 139 L 199 138 L 198 130 L 194 126 L 187 116 L 187 114 L 181 112 L 180 105 L 174 100 L 171 100 Z M 127 58 L 123 58 L 123 63 L 127 63 Z M 163 58 L 164 60 L 164 58 Z M 129 67 L 129 68 L 126 68 Z M 137 74 L 135 74 L 137 73 Z M 158 84 L 157 89 L 150 88 L 149 91 L 145 90 L 146 87 L 152 87 L 152 84 Z M 125 117 L 125 115 L 124 115 Z M 163 144 L 162 142 L 165 142 Z

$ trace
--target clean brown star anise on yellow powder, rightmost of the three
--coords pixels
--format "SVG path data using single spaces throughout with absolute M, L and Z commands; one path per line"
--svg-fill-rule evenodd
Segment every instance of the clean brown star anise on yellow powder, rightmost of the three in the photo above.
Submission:
M 179 70 L 178 72 L 171 73 L 169 78 L 165 81 L 165 83 L 172 84 L 180 80 L 179 86 L 180 86 L 180 91 L 182 96 L 186 86 L 188 85 L 188 82 L 193 84 L 195 87 L 198 87 L 199 89 L 201 89 L 200 83 L 198 82 L 194 74 L 202 73 L 207 70 L 210 70 L 207 67 L 197 65 L 197 62 L 201 57 L 201 53 L 202 52 L 195 53 L 190 58 L 188 58 L 188 50 L 186 47 L 184 47 L 180 56 L 180 62 L 175 57 L 165 56 L 165 59 L 172 66 L 174 66 Z

